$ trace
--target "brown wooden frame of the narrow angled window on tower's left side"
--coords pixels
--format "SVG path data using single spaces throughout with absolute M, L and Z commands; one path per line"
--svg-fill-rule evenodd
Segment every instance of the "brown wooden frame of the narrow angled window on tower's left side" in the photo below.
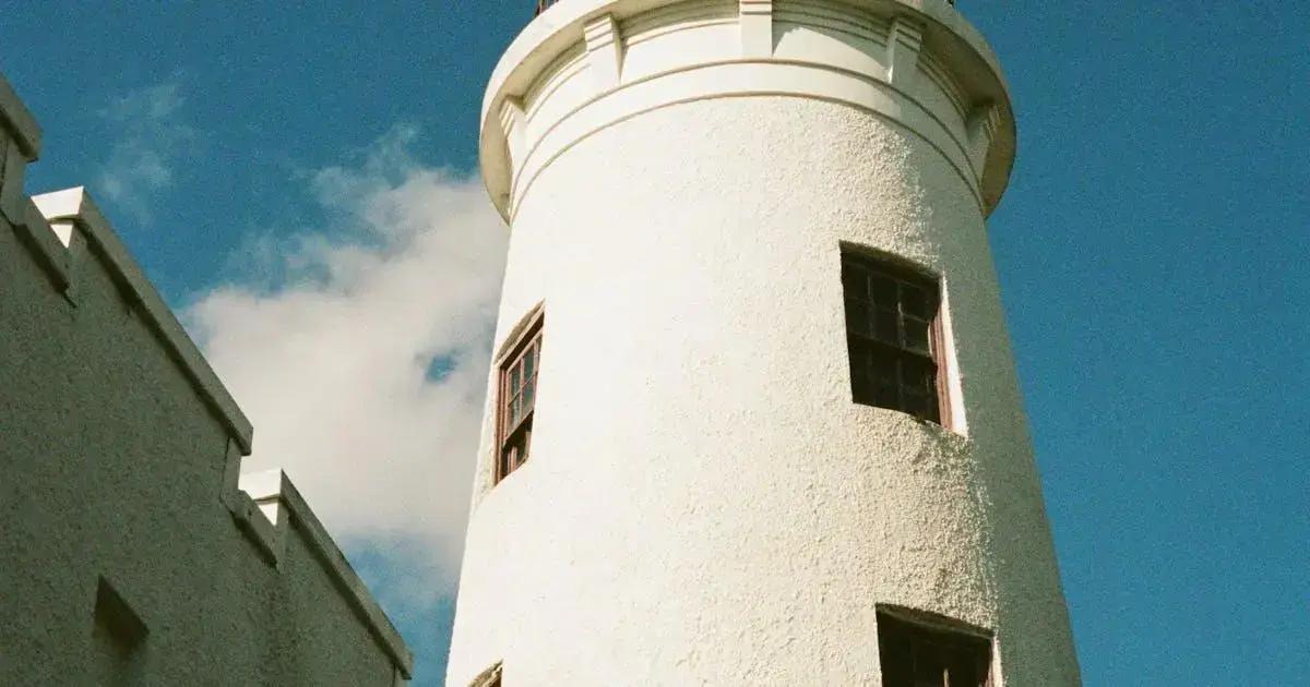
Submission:
M 494 483 L 510 476 L 515 470 L 523 467 L 532 454 L 532 423 L 537 408 L 537 379 L 541 370 L 541 334 L 545 325 L 544 311 L 537 310 L 515 327 L 506 352 L 496 362 L 496 403 L 495 403 L 495 457 L 493 476 Z M 521 369 L 527 353 L 534 355 L 531 376 L 523 376 L 519 389 L 512 389 L 515 369 Z M 514 402 L 520 398 L 525 389 L 532 387 L 532 400 L 528 407 L 520 411 L 519 417 L 511 417 Z

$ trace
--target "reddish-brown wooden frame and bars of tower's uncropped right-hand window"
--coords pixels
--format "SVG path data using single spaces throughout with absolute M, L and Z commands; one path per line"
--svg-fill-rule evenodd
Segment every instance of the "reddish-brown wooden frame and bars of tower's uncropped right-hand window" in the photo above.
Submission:
M 897 300 L 896 300 L 896 326 L 897 326 L 897 343 L 889 343 L 878 336 L 865 332 L 853 331 L 853 322 L 850 309 L 846 304 L 853 300 L 848 291 L 846 283 L 846 268 L 848 263 L 854 263 L 859 270 L 863 270 L 869 275 L 876 275 L 883 279 L 891 280 L 896 284 Z M 904 260 L 891 258 L 887 255 L 880 255 L 867 250 L 859 250 L 858 247 L 850 247 L 842 245 L 841 247 L 841 284 L 842 284 L 842 315 L 846 325 L 846 349 L 848 349 L 848 364 L 850 365 L 850 385 L 852 385 L 852 400 L 862 406 L 872 406 L 879 408 L 893 410 L 897 412 L 905 412 L 913 417 L 924 421 L 930 421 L 939 424 L 943 428 L 950 428 L 952 423 L 951 417 L 951 395 L 950 395 L 950 374 L 947 368 L 946 355 L 946 335 L 943 318 L 946 317 L 946 298 L 942 297 L 943 288 L 941 279 L 935 275 L 927 273 L 926 271 L 918 270 L 916 267 L 905 264 Z M 908 315 L 904 311 L 905 298 L 901 296 L 903 285 L 909 285 L 924 292 L 926 300 L 927 310 L 931 311 L 930 319 L 927 319 L 927 349 L 916 351 L 910 348 L 905 342 L 905 319 L 913 317 L 914 319 L 921 319 L 914 315 Z M 867 325 L 874 326 L 874 314 L 870 311 L 867 317 Z M 933 368 L 933 393 L 930 394 L 930 402 L 935 403 L 935 408 L 929 408 L 925 414 L 913 414 L 904 408 L 904 404 L 897 402 L 896 406 L 880 404 L 872 398 L 858 398 L 857 394 L 857 361 L 850 355 L 855 343 L 866 345 L 870 348 L 882 349 L 888 357 L 893 357 L 897 362 L 897 376 L 900 376 L 901 365 L 905 360 L 913 359 L 918 364 L 930 365 Z M 897 400 L 903 398 L 904 379 L 899 378 L 896 381 Z

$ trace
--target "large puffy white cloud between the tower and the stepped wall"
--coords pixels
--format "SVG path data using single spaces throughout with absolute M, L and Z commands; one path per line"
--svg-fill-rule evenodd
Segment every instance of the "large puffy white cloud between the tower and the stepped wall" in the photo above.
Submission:
M 329 226 L 261 237 L 253 281 L 186 321 L 254 423 L 244 470 L 283 467 L 338 540 L 407 571 L 376 593 L 431 601 L 464 543 L 507 230 L 413 136 L 313 174 Z

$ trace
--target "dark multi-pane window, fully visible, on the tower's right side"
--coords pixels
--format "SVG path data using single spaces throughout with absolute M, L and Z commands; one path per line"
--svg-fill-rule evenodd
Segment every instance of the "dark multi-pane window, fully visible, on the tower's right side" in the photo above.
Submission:
M 854 402 L 945 425 L 937 281 L 842 253 L 841 283 Z

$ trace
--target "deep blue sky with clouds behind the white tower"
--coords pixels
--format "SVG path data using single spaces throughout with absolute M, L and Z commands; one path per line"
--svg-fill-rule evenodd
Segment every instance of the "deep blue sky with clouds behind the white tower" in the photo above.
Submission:
M 415 683 L 439 684 L 503 245 L 466 246 L 498 233 L 468 177 L 482 85 L 532 3 L 240 5 L 9 4 L 0 71 L 46 131 L 29 190 L 101 199 L 257 408 L 257 451 L 322 453 L 297 442 L 313 417 L 244 381 L 266 372 L 242 366 L 254 353 L 304 357 L 305 338 L 390 353 L 405 391 L 380 398 L 453 417 L 398 448 L 367 428 L 338 437 L 426 471 L 343 458 L 308 478 L 321 499 L 305 489 L 414 646 Z M 992 242 L 1085 680 L 1296 683 L 1310 656 L 1310 9 L 960 9 L 1019 115 Z M 438 313 L 419 330 L 393 323 L 415 283 Z M 368 332 L 381 343 L 351 338 Z M 376 378 L 369 365 L 386 362 L 359 359 Z M 346 396 L 346 417 L 371 398 Z M 440 450 L 415 448 L 428 440 Z M 297 465 L 303 483 L 314 463 Z M 375 516 L 331 491 L 350 470 L 430 480 L 427 501 L 448 505 Z

